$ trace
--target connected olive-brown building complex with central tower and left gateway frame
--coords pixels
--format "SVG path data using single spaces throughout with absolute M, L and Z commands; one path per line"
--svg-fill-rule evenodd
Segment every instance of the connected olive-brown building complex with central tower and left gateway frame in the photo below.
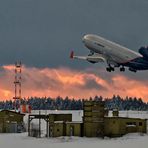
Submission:
M 31 129 L 33 127 L 30 127 L 33 119 L 46 121 L 47 137 L 103 138 L 104 136 L 118 137 L 133 132 L 146 133 L 146 119 L 119 117 L 117 109 L 113 110 L 112 113 L 113 116 L 109 117 L 103 101 L 84 101 L 82 122 L 72 121 L 72 114 L 29 115 L 28 135 L 34 135 Z

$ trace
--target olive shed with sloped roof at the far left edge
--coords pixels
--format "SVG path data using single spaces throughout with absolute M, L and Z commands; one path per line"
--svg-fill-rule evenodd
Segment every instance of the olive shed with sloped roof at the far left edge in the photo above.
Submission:
M 23 131 L 23 117 L 10 110 L 0 111 L 0 133 L 18 133 Z

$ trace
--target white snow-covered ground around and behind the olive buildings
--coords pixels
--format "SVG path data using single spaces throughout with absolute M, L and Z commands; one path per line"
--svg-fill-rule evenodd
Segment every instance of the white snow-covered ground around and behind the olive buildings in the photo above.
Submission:
M 72 113 L 73 121 L 81 121 L 82 111 L 42 111 L 42 113 Z M 38 113 L 38 111 L 33 111 Z M 111 116 L 111 113 L 109 114 Z M 122 111 L 120 116 L 147 118 L 148 112 Z M 27 122 L 27 116 L 25 118 Z M 37 123 L 37 121 L 34 121 Z M 43 122 L 43 121 L 42 121 Z M 45 124 L 42 124 L 44 129 Z M 147 134 L 128 134 L 120 138 L 86 138 L 86 137 L 59 137 L 59 138 L 33 138 L 27 133 L 0 134 L 0 148 L 147 148 Z

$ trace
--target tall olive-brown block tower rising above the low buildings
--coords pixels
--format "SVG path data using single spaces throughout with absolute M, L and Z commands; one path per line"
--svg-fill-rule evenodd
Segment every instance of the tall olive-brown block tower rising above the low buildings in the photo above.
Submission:
M 85 101 L 83 104 L 84 136 L 104 136 L 104 102 Z

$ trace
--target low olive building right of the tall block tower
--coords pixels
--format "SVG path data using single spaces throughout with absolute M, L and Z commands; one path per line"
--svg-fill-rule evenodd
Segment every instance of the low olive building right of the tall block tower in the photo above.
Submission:
M 104 134 L 118 137 L 127 133 L 146 133 L 146 119 L 126 117 L 105 117 Z

